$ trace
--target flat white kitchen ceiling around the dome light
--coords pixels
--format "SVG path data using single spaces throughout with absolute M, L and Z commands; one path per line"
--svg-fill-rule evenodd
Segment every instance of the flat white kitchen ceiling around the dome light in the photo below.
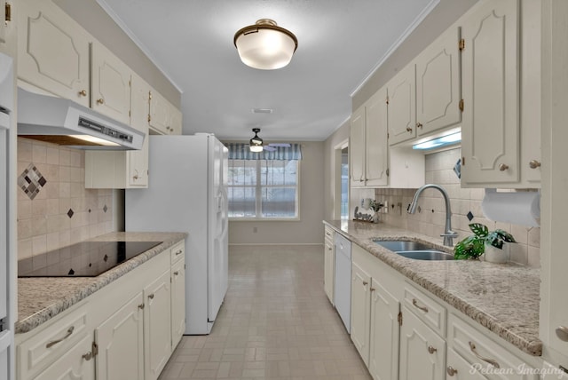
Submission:
M 351 93 L 438 0 L 98 0 L 182 93 L 184 134 L 324 140 Z M 298 39 L 288 67 L 245 66 L 234 33 L 275 20 Z M 272 114 L 254 114 L 271 108 Z

